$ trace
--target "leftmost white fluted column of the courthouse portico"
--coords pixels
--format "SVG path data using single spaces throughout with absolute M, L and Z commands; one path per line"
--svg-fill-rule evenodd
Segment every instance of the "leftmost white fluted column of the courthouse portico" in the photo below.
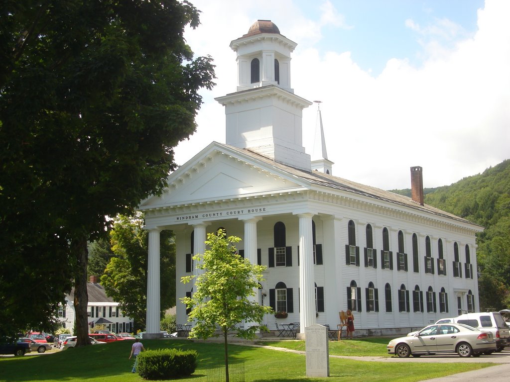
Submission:
M 147 312 L 144 338 L 158 338 L 160 333 L 160 229 L 149 230 L 147 263 Z

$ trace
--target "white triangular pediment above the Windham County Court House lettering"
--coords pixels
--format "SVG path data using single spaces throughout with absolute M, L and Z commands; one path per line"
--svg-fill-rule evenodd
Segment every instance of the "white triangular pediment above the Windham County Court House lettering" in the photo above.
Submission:
M 204 154 L 170 174 L 163 195 L 147 199 L 141 208 L 264 195 L 303 186 L 288 174 L 258 166 L 250 158 L 220 150 Z

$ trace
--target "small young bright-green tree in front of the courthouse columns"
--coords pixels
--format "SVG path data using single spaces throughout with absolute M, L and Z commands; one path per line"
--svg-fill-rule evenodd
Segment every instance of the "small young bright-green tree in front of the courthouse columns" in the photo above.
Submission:
M 250 298 L 263 280 L 265 266 L 251 264 L 237 254 L 235 243 L 240 240 L 237 236 L 227 238 L 223 229 L 216 234 L 208 233 L 209 249 L 193 256 L 203 274 L 196 279 L 194 276 L 182 278 L 183 283 L 195 281 L 193 295 L 182 299 L 191 309 L 189 320 L 194 322 L 190 337 L 206 339 L 215 336 L 219 328 L 223 336 L 226 382 L 229 381 L 228 333 L 235 331 L 238 337 L 252 339 L 258 330 L 267 328 L 260 324 L 241 328 L 239 324 L 262 322 L 264 315 L 272 312 L 271 307 L 261 306 Z

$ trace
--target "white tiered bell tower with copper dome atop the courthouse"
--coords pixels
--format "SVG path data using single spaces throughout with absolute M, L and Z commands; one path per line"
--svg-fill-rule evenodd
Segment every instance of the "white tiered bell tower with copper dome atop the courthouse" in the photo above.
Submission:
M 230 44 L 237 52 L 237 92 L 215 99 L 225 106 L 227 145 L 311 171 L 302 111 L 312 102 L 290 87 L 290 53 L 296 45 L 271 21 L 258 20 Z

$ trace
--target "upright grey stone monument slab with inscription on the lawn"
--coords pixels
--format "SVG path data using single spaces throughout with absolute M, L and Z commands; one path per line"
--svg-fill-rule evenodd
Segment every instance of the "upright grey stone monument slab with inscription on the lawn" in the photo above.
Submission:
M 329 376 L 329 343 L 327 328 L 313 324 L 304 328 L 307 377 Z

